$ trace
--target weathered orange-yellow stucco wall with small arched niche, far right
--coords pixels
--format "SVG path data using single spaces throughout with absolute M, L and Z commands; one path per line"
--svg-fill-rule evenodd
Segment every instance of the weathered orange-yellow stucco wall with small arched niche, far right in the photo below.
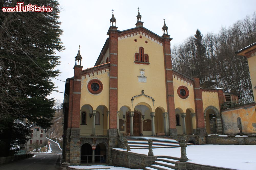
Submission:
M 242 132 L 245 134 L 256 133 L 255 107 L 244 106 L 243 108 L 222 112 L 222 121 L 225 134 L 239 133 L 237 118 L 241 118 Z

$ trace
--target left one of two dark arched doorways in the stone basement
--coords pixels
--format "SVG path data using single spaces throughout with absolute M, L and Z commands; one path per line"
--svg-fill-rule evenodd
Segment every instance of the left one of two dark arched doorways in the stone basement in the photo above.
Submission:
M 80 150 L 80 164 L 92 163 L 92 147 L 89 143 L 84 143 Z

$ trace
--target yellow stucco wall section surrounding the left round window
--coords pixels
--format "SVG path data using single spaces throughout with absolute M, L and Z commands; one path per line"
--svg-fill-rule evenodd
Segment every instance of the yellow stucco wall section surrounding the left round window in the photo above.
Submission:
M 92 79 L 98 79 L 102 82 L 103 90 L 101 93 L 93 95 L 89 92 L 87 85 Z M 90 74 L 90 76 L 88 74 L 82 76 L 80 107 L 84 104 L 90 104 L 93 110 L 96 110 L 100 105 L 109 108 L 109 69 L 94 72 L 94 74 Z

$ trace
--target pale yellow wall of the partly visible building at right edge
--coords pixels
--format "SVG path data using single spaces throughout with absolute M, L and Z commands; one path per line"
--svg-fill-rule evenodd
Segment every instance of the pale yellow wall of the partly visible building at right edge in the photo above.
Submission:
M 250 70 L 250 76 L 251 76 L 251 82 L 252 82 L 252 91 L 254 96 L 254 101 L 256 102 L 256 89 L 253 88 L 256 86 L 256 55 L 247 58 L 249 70 Z

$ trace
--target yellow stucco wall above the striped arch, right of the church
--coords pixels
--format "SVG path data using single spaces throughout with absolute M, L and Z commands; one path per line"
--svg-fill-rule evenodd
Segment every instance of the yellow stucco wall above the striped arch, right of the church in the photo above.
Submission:
M 219 97 L 217 92 L 202 91 L 203 108 L 204 111 L 208 106 L 214 106 L 220 111 Z

